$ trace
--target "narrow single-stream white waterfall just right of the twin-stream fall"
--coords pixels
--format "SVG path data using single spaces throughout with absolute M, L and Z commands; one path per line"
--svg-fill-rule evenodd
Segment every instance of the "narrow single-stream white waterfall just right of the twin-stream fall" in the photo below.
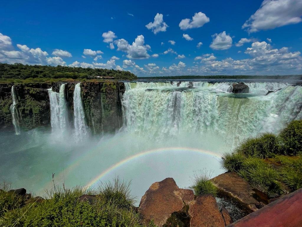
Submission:
M 74 127 L 76 140 L 81 140 L 88 134 L 85 122 L 85 112 L 82 104 L 81 83 L 76 84 L 73 92 Z

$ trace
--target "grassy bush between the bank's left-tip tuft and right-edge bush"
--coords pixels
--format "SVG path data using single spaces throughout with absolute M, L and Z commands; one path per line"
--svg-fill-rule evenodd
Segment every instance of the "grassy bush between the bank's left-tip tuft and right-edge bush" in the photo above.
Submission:
M 279 153 L 278 137 L 272 133 L 263 133 L 259 137 L 248 138 L 236 147 L 235 152 L 259 158 L 272 157 Z

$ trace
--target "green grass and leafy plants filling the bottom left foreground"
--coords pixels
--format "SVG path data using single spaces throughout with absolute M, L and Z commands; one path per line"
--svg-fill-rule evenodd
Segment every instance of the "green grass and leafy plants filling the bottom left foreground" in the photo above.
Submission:
M 96 197 L 90 204 L 79 200 L 83 194 Z M 54 187 L 49 199 L 25 203 L 21 196 L 2 190 L 0 202 L 0 226 L 142 226 L 129 183 L 118 178 L 98 191 Z

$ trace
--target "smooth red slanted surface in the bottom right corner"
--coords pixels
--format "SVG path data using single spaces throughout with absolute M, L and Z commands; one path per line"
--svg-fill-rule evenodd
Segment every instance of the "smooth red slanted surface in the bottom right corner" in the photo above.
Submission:
M 301 227 L 302 189 L 283 196 L 229 227 Z

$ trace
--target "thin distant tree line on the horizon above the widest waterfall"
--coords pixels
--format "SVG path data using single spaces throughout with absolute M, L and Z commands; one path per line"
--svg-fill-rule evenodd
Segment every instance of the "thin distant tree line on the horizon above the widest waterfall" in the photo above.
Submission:
M 258 75 L 213 75 L 213 76 L 166 76 L 166 77 L 138 77 L 138 79 L 292 79 L 302 80 L 302 75 L 274 75 L 274 76 L 258 76 Z

